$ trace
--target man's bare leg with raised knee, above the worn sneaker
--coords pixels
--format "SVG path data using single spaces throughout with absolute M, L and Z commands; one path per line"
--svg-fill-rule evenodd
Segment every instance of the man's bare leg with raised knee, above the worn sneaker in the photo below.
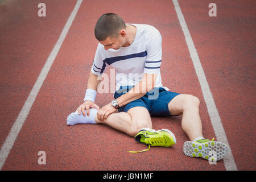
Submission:
M 199 99 L 188 94 L 180 94 L 168 104 L 172 115 L 183 114 L 181 127 L 191 141 L 197 137 L 203 137 L 199 105 Z

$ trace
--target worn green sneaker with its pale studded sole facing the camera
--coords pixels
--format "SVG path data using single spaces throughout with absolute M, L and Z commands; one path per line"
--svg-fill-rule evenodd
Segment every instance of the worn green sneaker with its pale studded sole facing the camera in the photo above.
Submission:
M 191 158 L 203 158 L 209 161 L 221 160 L 228 153 L 228 146 L 222 142 L 200 139 L 195 142 L 187 141 L 183 145 L 183 152 Z

